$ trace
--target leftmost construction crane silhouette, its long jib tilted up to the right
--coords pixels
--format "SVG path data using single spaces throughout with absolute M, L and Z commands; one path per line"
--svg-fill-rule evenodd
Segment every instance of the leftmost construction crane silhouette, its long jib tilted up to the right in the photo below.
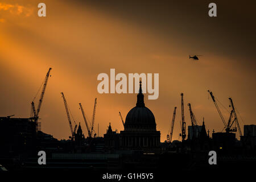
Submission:
M 33 99 L 33 101 L 31 102 L 31 109 L 33 111 L 33 115 L 31 114 L 31 118 L 36 122 L 36 131 L 40 130 L 40 127 L 38 125 L 38 118 L 39 118 L 39 112 L 40 112 L 40 109 L 41 109 L 41 106 L 42 106 L 42 102 L 43 102 L 43 98 L 44 98 L 44 93 L 46 92 L 46 86 L 47 86 L 47 82 L 48 82 L 48 78 L 49 78 L 49 74 L 51 72 L 51 69 L 52 68 L 49 68 L 47 74 L 46 74 L 46 77 L 44 78 L 44 84 L 43 84 L 43 89 L 42 89 L 42 93 L 41 93 L 41 96 L 39 98 L 39 102 L 38 102 L 38 108 L 35 110 L 35 104 L 34 104 L 34 100 L 35 100 L 35 97 Z

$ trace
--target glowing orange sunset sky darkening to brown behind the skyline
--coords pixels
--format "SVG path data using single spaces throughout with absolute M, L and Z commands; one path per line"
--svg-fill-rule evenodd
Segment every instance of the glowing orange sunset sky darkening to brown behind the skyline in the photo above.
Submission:
M 40 2 L 46 3 L 46 17 L 38 17 Z M 243 125 L 256 124 L 255 2 L 214 2 L 217 17 L 210 18 L 210 1 L 0 1 L 0 116 L 30 117 L 31 101 L 52 67 L 40 111 L 44 133 L 71 135 L 60 92 L 83 131 L 79 102 L 90 120 L 95 97 L 100 136 L 109 122 L 123 130 L 118 111 L 125 118 L 136 94 L 97 92 L 98 74 L 115 68 L 126 75 L 159 73 L 159 98 L 148 100 L 146 94 L 144 101 L 162 142 L 175 106 L 172 138 L 179 138 L 181 92 L 187 125 L 190 102 L 210 134 L 224 128 L 209 89 L 227 109 L 233 98 L 243 133 Z M 189 55 L 203 56 L 192 61 Z M 222 113 L 228 120 L 228 111 Z

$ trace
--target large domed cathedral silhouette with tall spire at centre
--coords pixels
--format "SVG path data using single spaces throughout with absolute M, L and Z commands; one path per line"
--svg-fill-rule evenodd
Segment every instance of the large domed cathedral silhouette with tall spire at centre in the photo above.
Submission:
M 122 150 L 142 150 L 160 153 L 160 131 L 156 131 L 154 114 L 144 104 L 141 81 L 137 104 L 125 119 L 125 130 L 120 132 Z

